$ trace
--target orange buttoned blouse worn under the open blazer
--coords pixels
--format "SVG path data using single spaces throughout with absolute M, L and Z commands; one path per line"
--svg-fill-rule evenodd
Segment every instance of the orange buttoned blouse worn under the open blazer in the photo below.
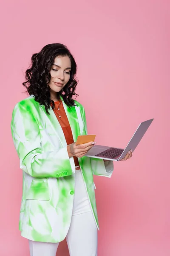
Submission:
M 53 109 L 53 111 L 54 111 L 54 113 L 55 113 L 55 115 L 56 115 L 56 117 L 59 121 L 59 124 L 62 127 L 62 131 L 64 133 L 67 145 L 69 145 L 69 144 L 74 143 L 73 134 L 72 134 L 71 126 L 68 122 L 68 118 L 67 118 L 67 115 L 65 113 L 65 109 L 64 109 L 64 106 L 62 104 L 62 101 L 61 101 L 60 106 L 59 106 L 59 103 L 60 103 L 59 101 L 54 102 L 55 108 Z M 57 108 L 59 108 L 59 110 L 57 110 Z M 61 116 L 61 117 L 59 117 L 59 116 Z M 80 167 L 79 167 L 79 161 L 78 161 L 77 157 L 74 157 L 74 163 L 75 163 L 75 166 L 77 166 L 76 170 L 79 170 Z

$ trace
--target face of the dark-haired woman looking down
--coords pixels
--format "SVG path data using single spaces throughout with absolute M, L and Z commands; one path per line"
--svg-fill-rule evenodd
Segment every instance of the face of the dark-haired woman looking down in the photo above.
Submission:
M 65 87 L 70 79 L 70 71 L 70 58 L 68 56 L 57 56 L 50 71 L 51 80 L 48 85 L 51 88 L 51 94 L 59 93 Z

